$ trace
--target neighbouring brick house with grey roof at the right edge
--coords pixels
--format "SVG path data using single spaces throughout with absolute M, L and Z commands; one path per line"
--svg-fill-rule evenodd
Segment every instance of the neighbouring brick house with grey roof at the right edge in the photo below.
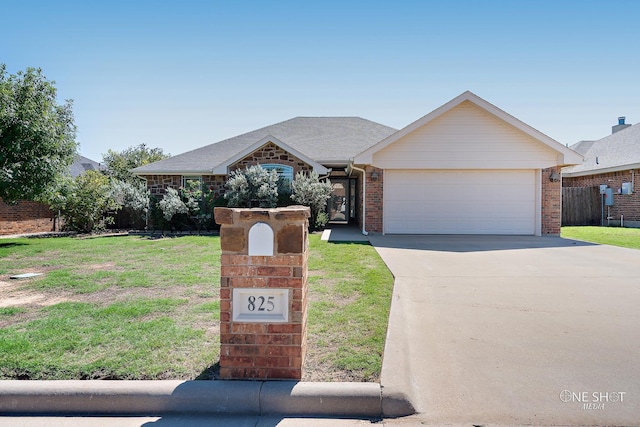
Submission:
M 600 186 L 608 187 L 613 205 L 606 204 L 606 196 L 596 202 L 597 223 L 640 227 L 640 184 L 636 183 L 640 176 L 640 125 L 625 124 L 625 118 L 620 117 L 611 135 L 580 141 L 571 148 L 584 156 L 584 163 L 562 170 L 563 188 L 591 189 L 600 198 Z M 602 219 L 600 204 L 605 206 Z

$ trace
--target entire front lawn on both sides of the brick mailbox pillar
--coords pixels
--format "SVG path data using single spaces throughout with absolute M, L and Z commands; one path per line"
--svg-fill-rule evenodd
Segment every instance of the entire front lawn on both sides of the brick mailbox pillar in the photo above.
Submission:
M 207 379 L 218 237 L 0 240 L 0 379 Z M 13 280 L 9 276 L 39 272 Z M 310 236 L 306 381 L 377 381 L 393 278 L 373 247 Z

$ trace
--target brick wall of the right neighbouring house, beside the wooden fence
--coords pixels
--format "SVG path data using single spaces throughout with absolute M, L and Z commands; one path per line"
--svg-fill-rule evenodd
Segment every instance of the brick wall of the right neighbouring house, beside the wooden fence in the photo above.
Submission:
M 620 216 L 624 215 L 624 221 L 640 221 L 640 169 L 624 170 L 618 172 L 603 173 L 597 175 L 563 177 L 563 187 L 599 187 L 606 184 L 614 189 L 614 205 L 608 210 L 614 223 L 619 223 Z M 623 182 L 632 182 L 634 185 L 632 194 L 618 194 Z M 631 224 L 628 224 L 631 225 Z M 635 226 L 635 225 L 634 225 Z

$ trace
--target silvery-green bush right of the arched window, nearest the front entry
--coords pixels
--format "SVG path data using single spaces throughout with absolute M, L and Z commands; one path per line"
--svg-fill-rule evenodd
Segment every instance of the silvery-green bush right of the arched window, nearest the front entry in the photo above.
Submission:
M 327 200 L 331 197 L 331 182 L 320 181 L 317 172 L 298 172 L 291 187 L 291 199 L 311 209 L 311 227 L 324 227 L 329 220 L 325 208 Z

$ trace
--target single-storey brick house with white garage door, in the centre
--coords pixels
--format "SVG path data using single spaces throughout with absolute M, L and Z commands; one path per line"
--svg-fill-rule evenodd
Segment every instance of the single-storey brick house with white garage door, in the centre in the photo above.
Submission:
M 330 220 L 363 232 L 559 234 L 560 168 L 573 150 L 465 92 L 396 131 L 354 117 L 298 117 L 133 170 L 153 194 L 261 164 L 333 185 Z

